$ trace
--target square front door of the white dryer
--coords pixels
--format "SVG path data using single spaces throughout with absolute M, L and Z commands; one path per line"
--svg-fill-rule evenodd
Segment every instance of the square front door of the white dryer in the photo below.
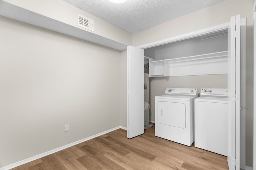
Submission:
M 184 129 L 186 105 L 176 102 L 158 102 L 158 123 Z

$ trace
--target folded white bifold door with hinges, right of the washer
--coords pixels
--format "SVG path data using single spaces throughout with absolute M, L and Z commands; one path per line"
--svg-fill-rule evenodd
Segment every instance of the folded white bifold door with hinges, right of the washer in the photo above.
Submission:
M 240 170 L 240 16 L 228 27 L 228 167 Z

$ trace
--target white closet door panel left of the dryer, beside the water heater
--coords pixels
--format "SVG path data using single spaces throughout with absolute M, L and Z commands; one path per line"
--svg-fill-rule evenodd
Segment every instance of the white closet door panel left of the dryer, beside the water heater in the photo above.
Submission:
M 127 47 L 127 137 L 144 133 L 144 50 Z

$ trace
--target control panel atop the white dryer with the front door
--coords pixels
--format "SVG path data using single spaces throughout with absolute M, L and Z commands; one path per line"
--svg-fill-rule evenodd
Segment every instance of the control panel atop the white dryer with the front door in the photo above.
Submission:
M 164 95 L 197 97 L 196 88 L 166 88 Z

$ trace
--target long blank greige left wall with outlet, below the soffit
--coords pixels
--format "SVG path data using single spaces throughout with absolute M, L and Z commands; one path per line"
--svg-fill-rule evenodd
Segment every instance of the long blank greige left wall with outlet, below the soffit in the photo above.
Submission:
M 120 126 L 120 51 L 0 23 L 0 168 Z

